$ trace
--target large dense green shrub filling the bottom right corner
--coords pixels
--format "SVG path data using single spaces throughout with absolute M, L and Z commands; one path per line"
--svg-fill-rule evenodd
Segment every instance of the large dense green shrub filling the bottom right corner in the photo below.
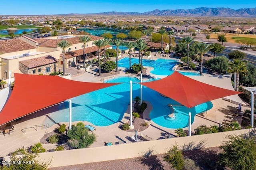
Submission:
M 233 170 L 256 169 L 255 134 L 228 135 L 221 148 L 220 163 Z

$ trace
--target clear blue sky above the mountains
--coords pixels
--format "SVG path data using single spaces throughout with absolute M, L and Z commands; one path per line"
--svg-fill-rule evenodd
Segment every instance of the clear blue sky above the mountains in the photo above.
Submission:
M 69 14 L 97 12 L 146 12 L 155 9 L 225 7 L 256 8 L 255 0 L 4 0 L 0 15 Z

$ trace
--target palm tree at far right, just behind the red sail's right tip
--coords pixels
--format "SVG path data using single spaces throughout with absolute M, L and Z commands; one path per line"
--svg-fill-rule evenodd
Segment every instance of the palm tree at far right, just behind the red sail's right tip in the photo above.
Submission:
M 236 73 L 236 91 L 238 91 L 239 73 L 245 75 L 247 72 L 245 62 L 240 59 L 234 59 L 234 61 L 230 63 L 230 69 L 228 69 L 228 71 L 230 71 L 230 73 Z

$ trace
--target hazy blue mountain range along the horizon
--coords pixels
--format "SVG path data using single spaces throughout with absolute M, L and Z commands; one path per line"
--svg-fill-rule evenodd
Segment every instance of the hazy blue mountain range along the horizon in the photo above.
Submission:
M 89 15 L 137 15 L 137 16 L 218 16 L 218 17 L 256 17 L 256 8 L 196 8 L 190 10 L 153 10 L 148 12 L 101 12 Z

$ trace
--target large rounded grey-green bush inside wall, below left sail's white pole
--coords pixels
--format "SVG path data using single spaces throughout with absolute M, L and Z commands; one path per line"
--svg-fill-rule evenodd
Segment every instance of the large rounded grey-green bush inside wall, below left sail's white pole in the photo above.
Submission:
M 72 126 L 67 134 L 70 139 L 68 143 L 73 148 L 86 148 L 96 141 L 96 135 L 93 133 L 90 134 L 82 122 L 77 123 L 76 126 Z

